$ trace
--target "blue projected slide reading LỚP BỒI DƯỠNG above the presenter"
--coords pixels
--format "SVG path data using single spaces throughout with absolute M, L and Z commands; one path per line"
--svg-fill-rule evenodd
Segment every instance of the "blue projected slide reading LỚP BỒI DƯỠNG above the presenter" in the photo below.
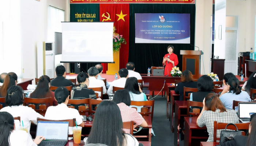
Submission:
M 190 14 L 135 14 L 135 43 L 190 43 Z

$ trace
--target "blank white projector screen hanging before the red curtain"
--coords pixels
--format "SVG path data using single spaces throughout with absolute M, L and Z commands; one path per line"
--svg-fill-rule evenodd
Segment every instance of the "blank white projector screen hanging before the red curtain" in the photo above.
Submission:
M 113 22 L 61 24 L 61 63 L 113 62 Z

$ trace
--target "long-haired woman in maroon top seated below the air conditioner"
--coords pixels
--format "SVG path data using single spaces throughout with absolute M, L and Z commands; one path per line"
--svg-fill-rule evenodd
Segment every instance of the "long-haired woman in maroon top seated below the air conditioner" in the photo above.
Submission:
M 57 101 L 54 99 L 54 92 L 50 91 L 50 78 L 46 75 L 39 78 L 37 88 L 30 94 L 30 98 L 48 98 L 52 97 L 53 106 L 58 105 Z M 49 103 L 46 103 L 46 108 L 50 106 Z M 35 104 L 35 109 L 39 108 L 39 104 Z

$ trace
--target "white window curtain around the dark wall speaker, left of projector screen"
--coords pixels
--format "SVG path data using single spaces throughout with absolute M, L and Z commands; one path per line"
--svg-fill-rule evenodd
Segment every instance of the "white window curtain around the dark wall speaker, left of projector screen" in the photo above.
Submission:
M 64 22 L 64 11 L 48 7 L 48 40 L 54 41 L 54 32 L 62 32 L 61 22 Z M 55 67 L 60 63 L 62 55 L 55 55 Z

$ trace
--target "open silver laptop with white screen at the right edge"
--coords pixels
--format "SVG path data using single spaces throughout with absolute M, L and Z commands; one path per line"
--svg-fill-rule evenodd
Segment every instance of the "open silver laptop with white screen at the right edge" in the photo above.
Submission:
M 256 103 L 238 103 L 238 118 L 242 123 L 250 122 L 250 113 L 256 112 Z

